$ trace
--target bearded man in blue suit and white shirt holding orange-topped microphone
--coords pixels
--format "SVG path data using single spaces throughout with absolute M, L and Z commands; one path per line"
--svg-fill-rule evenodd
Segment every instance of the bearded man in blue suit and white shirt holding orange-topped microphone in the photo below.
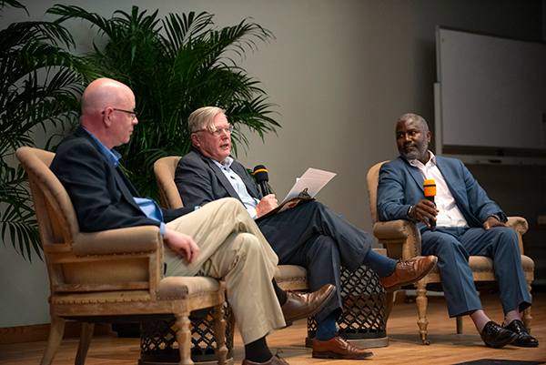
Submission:
M 515 231 L 464 164 L 429 150 L 427 122 L 415 114 L 399 118 L 396 140 L 400 156 L 379 170 L 379 220 L 410 219 L 421 232 L 421 252 L 436 255 L 450 317 L 469 314 L 487 346 L 538 346 L 520 320 L 531 306 Z M 425 179 L 435 180 L 435 203 L 425 198 Z M 431 228 L 430 222 L 436 223 Z M 484 313 L 468 259 L 486 256 L 501 291 L 503 327 Z

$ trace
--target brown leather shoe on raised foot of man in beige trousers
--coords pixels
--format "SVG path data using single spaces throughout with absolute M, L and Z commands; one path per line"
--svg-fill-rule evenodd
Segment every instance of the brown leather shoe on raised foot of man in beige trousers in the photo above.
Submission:
M 336 286 L 326 284 L 324 287 L 312 293 L 299 291 L 287 291 L 287 302 L 280 308 L 284 314 L 285 322 L 308 318 L 317 313 L 336 292 Z

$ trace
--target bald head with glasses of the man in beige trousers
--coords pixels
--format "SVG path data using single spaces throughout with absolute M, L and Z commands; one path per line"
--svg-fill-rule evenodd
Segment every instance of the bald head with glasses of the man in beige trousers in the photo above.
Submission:
M 135 95 L 125 84 L 111 78 L 97 78 L 82 96 L 82 126 L 106 147 L 129 141 L 138 123 Z

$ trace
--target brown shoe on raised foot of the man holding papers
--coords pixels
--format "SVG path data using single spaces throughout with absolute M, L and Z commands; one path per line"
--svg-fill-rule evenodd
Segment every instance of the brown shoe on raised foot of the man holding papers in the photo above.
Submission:
M 383 288 L 388 291 L 394 291 L 422 279 L 429 271 L 434 268 L 438 258 L 436 256 L 427 256 L 413 258 L 408 261 L 399 261 L 396 264 L 394 273 L 389 277 L 379 278 Z

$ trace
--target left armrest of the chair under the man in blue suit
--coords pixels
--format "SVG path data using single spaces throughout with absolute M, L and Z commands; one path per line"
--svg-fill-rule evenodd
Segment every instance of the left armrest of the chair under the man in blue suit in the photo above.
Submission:
M 391 259 L 411 259 L 420 255 L 420 231 L 415 223 L 406 219 L 377 222 L 373 235 L 387 248 Z

